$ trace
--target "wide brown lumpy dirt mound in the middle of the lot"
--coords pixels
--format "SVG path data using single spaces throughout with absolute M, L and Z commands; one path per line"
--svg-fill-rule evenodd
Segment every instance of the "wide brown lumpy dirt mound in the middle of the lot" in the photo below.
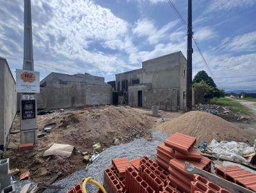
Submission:
M 147 130 L 150 122 L 147 116 L 127 106 L 71 112 L 63 116 L 60 126 L 52 130 L 51 136 L 47 136 L 44 142 L 48 143 L 54 138 L 56 143 L 67 143 L 80 151 L 92 150 L 94 143 L 107 148 L 115 138 L 124 142 L 132 141 L 136 135 L 130 137 L 131 128 L 134 128 L 134 133 L 142 131 L 138 137 L 149 138 Z

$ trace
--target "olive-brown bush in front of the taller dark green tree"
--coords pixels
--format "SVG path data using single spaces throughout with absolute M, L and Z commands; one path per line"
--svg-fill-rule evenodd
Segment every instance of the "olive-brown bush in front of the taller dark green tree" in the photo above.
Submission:
M 193 86 L 195 91 L 195 104 L 205 104 L 205 98 L 211 98 L 210 95 L 214 88 L 209 86 L 205 81 L 195 82 Z

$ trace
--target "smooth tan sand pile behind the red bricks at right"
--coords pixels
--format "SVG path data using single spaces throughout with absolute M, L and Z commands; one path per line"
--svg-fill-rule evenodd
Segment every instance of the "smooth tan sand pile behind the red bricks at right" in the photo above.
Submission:
M 256 132 L 243 130 L 232 123 L 214 116 L 208 112 L 190 111 L 179 118 L 163 123 L 157 130 L 172 135 L 175 132 L 196 137 L 197 144 L 200 141 L 239 141 L 253 144 Z

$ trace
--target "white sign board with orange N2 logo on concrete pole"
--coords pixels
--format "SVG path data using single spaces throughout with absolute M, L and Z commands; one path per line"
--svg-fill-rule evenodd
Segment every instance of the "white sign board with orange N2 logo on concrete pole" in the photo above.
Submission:
M 40 93 L 40 73 L 16 69 L 16 91 L 18 93 Z

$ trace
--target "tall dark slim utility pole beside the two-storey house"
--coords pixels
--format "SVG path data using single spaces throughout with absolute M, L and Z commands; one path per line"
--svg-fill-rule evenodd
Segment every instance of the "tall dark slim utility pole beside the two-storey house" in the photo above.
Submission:
M 188 0 L 187 111 L 192 110 L 192 0 Z

